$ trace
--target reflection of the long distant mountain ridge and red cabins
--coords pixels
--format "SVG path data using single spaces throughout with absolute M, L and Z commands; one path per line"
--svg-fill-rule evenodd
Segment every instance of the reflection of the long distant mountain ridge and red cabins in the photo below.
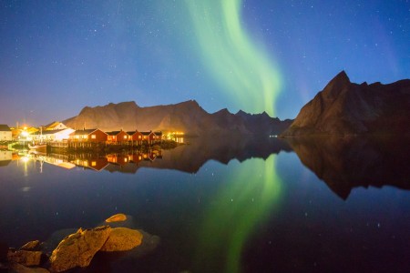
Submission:
M 57 154 L 36 153 L 31 157 L 36 160 L 45 159 L 46 163 L 56 160 L 75 164 L 95 171 L 107 170 L 109 172 L 137 173 L 140 167 L 159 169 L 174 169 L 186 173 L 197 173 L 209 160 L 216 160 L 228 164 L 232 159 L 243 162 L 252 157 L 262 159 L 281 151 L 292 151 L 289 145 L 276 138 L 253 139 L 231 137 L 218 141 L 204 138 L 194 138 L 189 145 L 183 145 L 170 150 L 148 149 L 124 150 L 117 154 Z M 56 164 L 55 164 L 56 165 Z

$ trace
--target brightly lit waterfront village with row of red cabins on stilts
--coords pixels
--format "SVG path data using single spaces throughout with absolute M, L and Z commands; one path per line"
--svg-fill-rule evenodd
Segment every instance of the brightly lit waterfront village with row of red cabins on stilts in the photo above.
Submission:
M 183 142 L 182 133 L 169 133 L 164 137 L 161 131 L 103 131 L 98 128 L 74 129 L 55 121 L 46 126 L 28 127 L 0 125 L 0 147 L 23 145 L 34 149 L 55 147 L 85 149 L 107 146 L 143 146 L 161 144 L 174 140 Z

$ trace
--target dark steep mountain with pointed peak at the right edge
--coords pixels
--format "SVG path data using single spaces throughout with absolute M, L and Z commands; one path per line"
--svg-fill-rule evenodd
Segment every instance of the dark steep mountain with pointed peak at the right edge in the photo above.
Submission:
M 281 136 L 410 135 L 410 80 L 351 83 L 344 71 L 302 107 Z

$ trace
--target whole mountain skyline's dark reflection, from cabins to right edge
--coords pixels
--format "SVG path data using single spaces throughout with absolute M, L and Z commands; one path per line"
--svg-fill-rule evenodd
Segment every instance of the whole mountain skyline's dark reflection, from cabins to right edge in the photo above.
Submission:
M 218 141 L 195 138 L 190 145 L 171 150 L 149 149 L 146 152 L 124 151 L 108 155 L 51 153 L 34 158 L 46 158 L 47 163 L 60 167 L 75 164 L 97 171 L 129 174 L 137 173 L 140 167 L 197 173 L 209 160 L 228 164 L 232 159 L 240 162 L 252 157 L 267 159 L 272 154 L 293 150 L 305 167 L 311 169 L 336 195 L 346 199 L 354 187 L 410 189 L 408 147 L 410 139 L 405 137 L 227 138 Z M 8 164 L 10 161 L 4 162 Z

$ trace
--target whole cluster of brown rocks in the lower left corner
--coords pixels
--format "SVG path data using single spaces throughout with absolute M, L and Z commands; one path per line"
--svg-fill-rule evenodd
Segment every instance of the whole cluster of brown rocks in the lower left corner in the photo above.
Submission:
M 108 217 L 104 225 L 94 228 L 78 228 L 59 241 L 50 253 L 46 242 L 34 240 L 21 248 L 0 246 L 0 272 L 17 273 L 66 272 L 73 268 L 87 268 L 97 253 L 127 253 L 139 249 L 140 257 L 159 244 L 157 236 L 128 226 L 128 217 L 117 214 Z M 70 271 L 71 272 L 71 271 Z

